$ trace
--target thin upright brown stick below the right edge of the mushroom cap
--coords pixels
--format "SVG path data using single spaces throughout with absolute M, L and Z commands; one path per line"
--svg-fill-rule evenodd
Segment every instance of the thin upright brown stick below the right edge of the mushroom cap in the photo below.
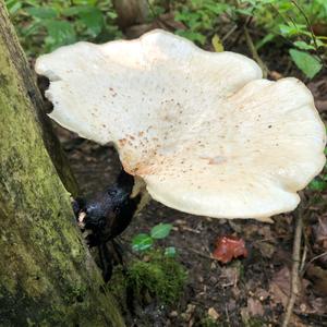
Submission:
M 303 207 L 301 206 L 294 213 L 295 218 L 295 234 L 293 241 L 293 254 L 292 254 L 292 272 L 291 272 L 291 294 L 287 305 L 286 314 L 282 319 L 282 327 L 289 326 L 289 322 L 293 312 L 296 296 L 300 293 L 300 279 L 299 279 L 299 268 L 300 268 L 300 255 L 301 255 L 301 239 L 302 239 L 302 226 L 303 226 Z

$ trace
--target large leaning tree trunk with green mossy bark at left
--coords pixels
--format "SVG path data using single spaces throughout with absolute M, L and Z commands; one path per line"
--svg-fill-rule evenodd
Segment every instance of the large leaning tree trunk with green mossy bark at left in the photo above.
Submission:
M 75 227 L 58 170 L 74 183 L 60 154 L 53 166 L 53 147 L 0 0 L 0 325 L 123 326 Z

